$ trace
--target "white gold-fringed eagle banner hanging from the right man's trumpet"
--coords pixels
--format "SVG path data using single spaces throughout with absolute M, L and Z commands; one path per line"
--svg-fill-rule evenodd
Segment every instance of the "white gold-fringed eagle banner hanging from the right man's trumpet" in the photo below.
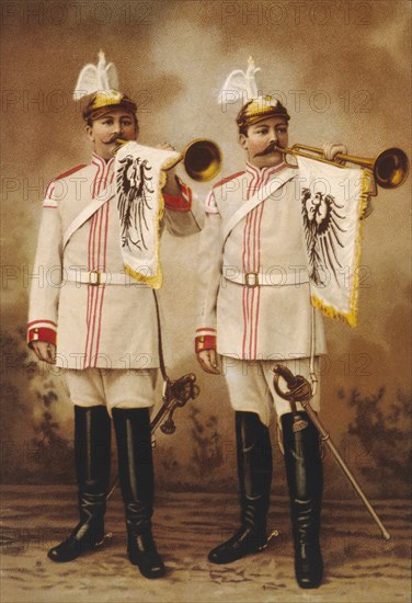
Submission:
M 312 305 L 329 318 L 355 327 L 360 217 L 367 205 L 369 177 L 362 169 L 304 157 L 297 160 Z

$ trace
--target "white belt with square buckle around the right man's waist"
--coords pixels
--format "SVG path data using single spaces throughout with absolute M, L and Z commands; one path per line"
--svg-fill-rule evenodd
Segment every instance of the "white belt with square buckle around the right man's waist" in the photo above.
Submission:
M 245 287 L 284 287 L 284 286 L 298 286 L 305 283 L 309 283 L 309 275 L 306 270 L 297 269 L 293 271 L 286 271 L 283 269 L 268 269 L 266 272 L 239 272 L 239 271 L 225 271 L 222 275 L 227 281 L 244 285 Z

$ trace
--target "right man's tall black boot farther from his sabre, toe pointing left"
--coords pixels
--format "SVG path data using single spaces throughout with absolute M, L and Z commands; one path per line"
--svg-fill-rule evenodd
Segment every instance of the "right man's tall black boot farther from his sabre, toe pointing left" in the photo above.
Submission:
M 268 429 L 254 412 L 236 412 L 236 443 L 241 526 L 210 550 L 213 564 L 230 564 L 267 545 L 266 517 L 271 498 L 272 447 Z

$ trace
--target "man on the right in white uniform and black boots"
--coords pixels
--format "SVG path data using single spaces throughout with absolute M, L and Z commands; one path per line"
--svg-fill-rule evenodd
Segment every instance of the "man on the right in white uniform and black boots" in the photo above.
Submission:
M 288 123 L 286 109 L 271 96 L 255 95 L 237 116 L 247 164 L 217 183 L 206 200 L 196 354 L 204 371 L 225 374 L 236 411 L 241 525 L 208 559 L 229 564 L 267 545 L 274 408 L 285 452 L 296 578 L 311 589 L 322 580 L 319 435 L 299 406 L 301 430 L 296 430 L 290 403 L 276 394 L 272 372 L 282 361 L 309 378 L 311 329 L 314 356 L 325 352 L 321 317 L 311 323 L 298 171 L 284 161 Z M 324 146 L 329 160 L 345 151 L 342 145 Z M 319 390 L 312 407 L 319 410 Z

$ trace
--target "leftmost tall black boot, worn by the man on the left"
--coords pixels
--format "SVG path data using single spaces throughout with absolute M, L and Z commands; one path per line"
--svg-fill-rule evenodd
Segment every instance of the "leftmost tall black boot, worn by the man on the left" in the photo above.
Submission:
M 103 406 L 75 406 L 75 457 L 79 523 L 69 538 L 50 548 L 53 561 L 72 561 L 104 539 L 111 470 L 111 420 Z

